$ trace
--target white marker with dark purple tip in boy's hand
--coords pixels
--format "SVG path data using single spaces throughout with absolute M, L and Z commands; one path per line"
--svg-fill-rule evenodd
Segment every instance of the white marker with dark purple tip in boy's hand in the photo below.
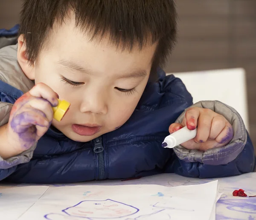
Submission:
M 191 131 L 187 127 L 183 127 L 182 129 L 168 135 L 164 139 L 162 143 L 162 147 L 174 148 L 188 140 L 193 139 L 196 136 L 196 134 L 197 134 L 197 129 Z

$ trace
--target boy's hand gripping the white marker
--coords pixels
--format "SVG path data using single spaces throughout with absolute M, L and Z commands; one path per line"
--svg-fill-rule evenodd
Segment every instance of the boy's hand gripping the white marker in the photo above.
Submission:
M 182 123 L 173 123 L 169 127 L 169 132 L 172 134 L 184 126 L 187 126 L 189 130 L 197 127 L 196 137 L 181 144 L 186 149 L 206 151 L 225 146 L 233 138 L 231 124 L 222 115 L 210 109 L 198 107 L 188 109 Z

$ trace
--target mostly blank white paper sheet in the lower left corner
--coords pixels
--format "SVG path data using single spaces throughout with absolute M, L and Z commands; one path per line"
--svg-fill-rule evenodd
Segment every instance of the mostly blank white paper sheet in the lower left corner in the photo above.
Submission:
M 0 219 L 18 219 L 48 188 L 48 186 L 0 188 Z

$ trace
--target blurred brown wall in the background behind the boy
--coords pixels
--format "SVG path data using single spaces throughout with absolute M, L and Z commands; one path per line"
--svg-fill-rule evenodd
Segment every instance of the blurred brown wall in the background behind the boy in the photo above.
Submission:
M 178 42 L 165 70 L 244 68 L 256 146 L 256 0 L 176 0 L 176 5 Z M 21 0 L 0 0 L 0 29 L 18 23 L 20 7 Z

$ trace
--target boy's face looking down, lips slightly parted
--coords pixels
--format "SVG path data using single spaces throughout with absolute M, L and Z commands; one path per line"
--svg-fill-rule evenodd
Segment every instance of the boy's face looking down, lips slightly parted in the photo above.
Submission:
M 122 126 L 143 94 L 156 45 L 122 51 L 107 37 L 90 41 L 73 20 L 52 31 L 48 41 L 32 70 L 35 83 L 47 84 L 71 103 L 53 126 L 81 142 Z

